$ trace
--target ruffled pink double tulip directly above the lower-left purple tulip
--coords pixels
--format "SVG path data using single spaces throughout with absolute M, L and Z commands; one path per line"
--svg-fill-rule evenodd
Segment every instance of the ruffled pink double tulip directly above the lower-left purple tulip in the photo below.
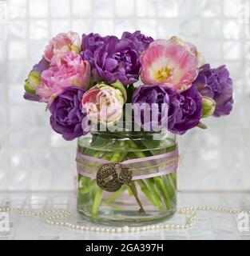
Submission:
M 51 103 L 66 87 L 78 86 L 87 89 L 90 79 L 89 62 L 81 56 L 66 52 L 62 58 L 57 58 L 54 66 L 42 71 L 42 82 L 36 89 L 41 102 Z

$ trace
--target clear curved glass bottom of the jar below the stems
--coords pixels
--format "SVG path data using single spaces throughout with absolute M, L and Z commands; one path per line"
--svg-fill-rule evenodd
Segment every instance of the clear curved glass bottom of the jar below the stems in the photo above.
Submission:
M 135 210 L 100 209 L 97 216 L 90 214 L 89 209 L 86 208 L 78 207 L 77 211 L 81 214 L 82 218 L 98 224 L 101 223 L 102 225 L 144 226 L 156 224 L 157 222 L 162 222 L 163 220 L 171 218 L 176 212 L 176 209 L 165 211 L 146 210 L 145 214 L 139 214 Z

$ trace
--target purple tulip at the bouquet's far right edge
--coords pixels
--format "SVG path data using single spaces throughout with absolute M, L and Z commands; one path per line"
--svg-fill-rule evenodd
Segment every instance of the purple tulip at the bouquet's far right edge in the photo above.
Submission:
M 194 86 L 202 96 L 212 98 L 216 102 L 214 116 L 230 114 L 232 110 L 232 79 L 226 66 L 211 69 L 209 64 L 203 66 L 194 82 Z

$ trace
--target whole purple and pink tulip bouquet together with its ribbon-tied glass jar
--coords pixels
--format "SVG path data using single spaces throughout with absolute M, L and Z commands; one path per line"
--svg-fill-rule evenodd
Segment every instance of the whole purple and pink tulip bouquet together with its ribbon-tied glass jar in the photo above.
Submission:
M 77 138 L 77 210 L 103 222 L 152 222 L 177 204 L 177 134 L 232 110 L 225 66 L 177 37 L 58 34 L 26 79 L 50 125 Z

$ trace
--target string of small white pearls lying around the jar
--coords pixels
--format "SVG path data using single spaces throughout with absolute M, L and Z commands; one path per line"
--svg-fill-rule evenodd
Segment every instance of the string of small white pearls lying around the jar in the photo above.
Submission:
M 250 210 L 232 210 L 223 207 L 183 207 L 178 210 L 179 214 L 189 215 L 186 219 L 185 224 L 157 224 L 157 225 L 146 225 L 146 226 L 123 226 L 123 227 L 99 227 L 99 226 L 83 226 L 75 225 L 70 222 L 62 222 L 61 218 L 69 218 L 71 215 L 69 211 L 66 210 L 40 210 L 40 211 L 30 211 L 22 210 L 19 207 L 0 207 L 0 212 L 15 212 L 16 214 L 21 214 L 22 216 L 46 216 L 45 220 L 47 224 L 54 226 L 65 226 L 74 230 L 85 230 L 85 231 L 96 231 L 96 232 L 106 232 L 106 233 L 121 233 L 121 232 L 140 232 L 146 230 L 185 230 L 190 228 L 196 223 L 196 218 L 198 211 L 211 211 L 225 214 L 240 214 L 246 213 L 250 214 Z

